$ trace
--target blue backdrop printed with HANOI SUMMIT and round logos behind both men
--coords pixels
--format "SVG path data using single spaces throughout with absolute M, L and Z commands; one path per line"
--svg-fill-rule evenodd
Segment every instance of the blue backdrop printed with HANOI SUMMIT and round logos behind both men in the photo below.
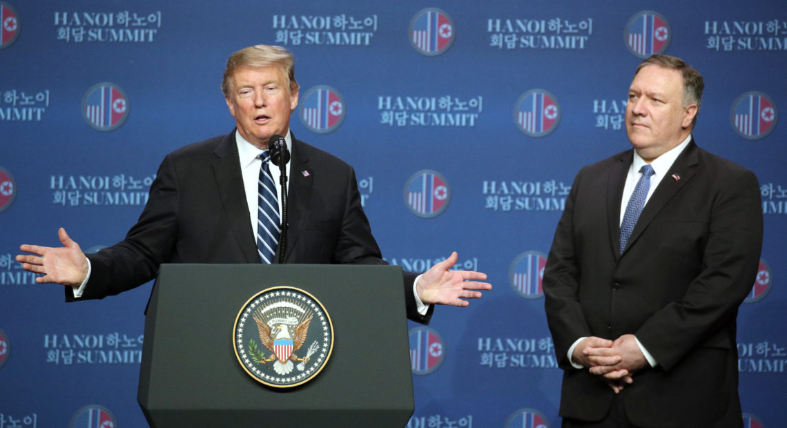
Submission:
M 257 43 L 295 54 L 292 130 L 355 166 L 386 260 L 425 270 L 457 250 L 490 275 L 481 301 L 410 326 L 412 428 L 560 426 L 545 253 L 578 169 L 630 146 L 636 65 L 684 58 L 706 83 L 696 142 L 762 186 L 740 392 L 752 426 L 787 419 L 782 0 L 3 0 L 0 26 L 0 427 L 145 425 L 150 285 L 65 304 L 13 256 L 59 245 L 57 227 L 86 251 L 120 241 L 166 153 L 231 131 L 224 65 Z

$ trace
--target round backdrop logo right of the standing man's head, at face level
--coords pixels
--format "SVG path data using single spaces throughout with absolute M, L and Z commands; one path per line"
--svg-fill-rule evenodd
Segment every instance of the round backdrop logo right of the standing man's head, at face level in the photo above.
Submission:
M 776 104 L 766 94 L 752 90 L 733 102 L 730 122 L 738 135 L 748 140 L 765 138 L 776 127 Z

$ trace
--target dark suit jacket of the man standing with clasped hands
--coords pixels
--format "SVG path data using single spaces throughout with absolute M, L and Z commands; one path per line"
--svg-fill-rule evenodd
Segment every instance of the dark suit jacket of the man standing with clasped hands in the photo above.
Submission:
M 689 142 L 619 256 L 632 160 L 627 150 L 582 168 L 549 251 L 543 286 L 564 370 L 560 415 L 602 419 L 613 397 L 601 378 L 571 367 L 571 345 L 634 334 L 658 362 L 621 393 L 635 425 L 741 426 L 735 319 L 762 247 L 757 179 Z

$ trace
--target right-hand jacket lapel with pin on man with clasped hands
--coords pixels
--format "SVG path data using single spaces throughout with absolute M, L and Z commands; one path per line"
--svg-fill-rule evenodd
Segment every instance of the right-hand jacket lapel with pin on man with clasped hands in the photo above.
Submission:
M 631 248 L 631 245 L 637 242 L 637 238 L 642 234 L 642 231 L 645 231 L 645 227 L 648 227 L 648 224 L 661 211 L 661 208 L 667 205 L 671 197 L 685 186 L 685 183 L 689 183 L 689 180 L 696 174 L 696 166 L 697 147 L 692 139 L 683 150 L 683 153 L 675 159 L 670 170 L 667 171 L 659 186 L 656 187 L 648 202 L 645 203 L 645 208 L 642 208 L 637 224 L 634 225 L 634 231 L 631 232 L 626 249 Z

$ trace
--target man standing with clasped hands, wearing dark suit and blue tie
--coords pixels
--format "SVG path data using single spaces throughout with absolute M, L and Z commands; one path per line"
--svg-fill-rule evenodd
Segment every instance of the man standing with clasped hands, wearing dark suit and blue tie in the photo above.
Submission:
M 693 140 L 703 86 L 679 58 L 643 61 L 634 149 L 571 187 L 543 279 L 563 426 L 742 426 L 735 319 L 763 216 L 755 175 Z

